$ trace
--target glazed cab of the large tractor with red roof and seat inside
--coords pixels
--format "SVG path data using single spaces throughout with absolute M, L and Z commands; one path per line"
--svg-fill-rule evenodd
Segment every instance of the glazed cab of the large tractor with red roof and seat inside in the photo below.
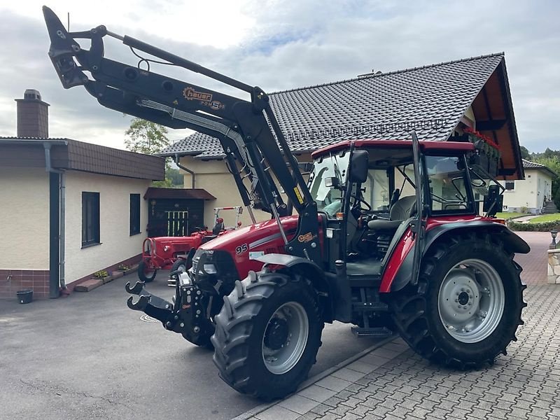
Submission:
M 380 281 L 414 219 L 475 218 L 473 151 L 470 143 L 423 141 L 415 160 L 412 141 L 364 140 L 314 153 L 309 190 L 324 224 L 325 269 L 335 272 L 335 261 L 345 260 L 356 283 Z

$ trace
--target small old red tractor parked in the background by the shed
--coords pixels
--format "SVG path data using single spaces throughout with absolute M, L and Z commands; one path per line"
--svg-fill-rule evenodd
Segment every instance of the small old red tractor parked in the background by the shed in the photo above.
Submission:
M 223 218 L 219 216 L 221 210 L 235 210 L 235 226 L 225 228 Z M 155 279 L 158 269 L 172 269 L 176 271 L 183 267 L 186 271 L 186 259 L 191 249 L 197 249 L 201 244 L 214 239 L 218 235 L 239 228 L 239 216 L 243 207 L 215 207 L 214 228 L 198 228 L 188 237 L 153 237 L 146 238 L 142 244 L 142 260 L 138 265 L 138 277 L 141 281 L 149 283 Z M 176 276 L 171 276 L 170 286 L 175 286 Z

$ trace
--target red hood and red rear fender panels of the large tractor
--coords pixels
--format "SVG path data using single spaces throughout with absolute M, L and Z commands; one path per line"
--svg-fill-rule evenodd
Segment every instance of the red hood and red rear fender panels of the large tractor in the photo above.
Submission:
M 281 218 L 281 221 L 284 230 L 286 230 L 288 239 L 291 239 L 297 228 L 297 216 L 287 216 Z M 474 221 L 495 223 L 495 220 L 491 218 L 475 215 L 433 217 L 428 218 L 426 232 L 444 223 L 463 222 L 468 224 Z M 319 239 L 322 248 L 322 228 L 319 229 Z M 402 236 L 402 240 L 399 241 L 395 247 L 391 258 L 388 260 L 386 269 L 381 277 L 379 292 L 389 293 L 391 291 L 391 283 L 393 283 L 398 269 L 402 265 L 402 261 L 405 260 L 406 256 L 411 251 L 413 244 L 414 239 L 412 239 L 412 232 L 410 229 L 407 229 Z M 244 279 L 250 270 L 258 271 L 262 268 L 262 262 L 255 261 L 254 258 L 268 253 L 286 253 L 283 245 L 278 225 L 276 225 L 276 221 L 272 219 L 256 223 L 255 225 L 246 226 L 245 228 L 232 231 L 228 233 L 228 235 L 212 239 L 206 244 L 202 244 L 200 248 L 214 251 L 221 250 L 230 253 L 234 259 L 239 276 L 241 279 Z

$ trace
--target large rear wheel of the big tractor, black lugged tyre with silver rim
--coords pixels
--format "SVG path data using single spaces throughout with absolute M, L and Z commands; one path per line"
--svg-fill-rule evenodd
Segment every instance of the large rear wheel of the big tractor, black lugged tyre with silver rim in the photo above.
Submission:
M 513 253 L 490 235 L 439 241 L 423 258 L 418 285 L 395 293 L 395 325 L 414 351 L 436 363 L 493 363 L 523 324 L 520 273 Z

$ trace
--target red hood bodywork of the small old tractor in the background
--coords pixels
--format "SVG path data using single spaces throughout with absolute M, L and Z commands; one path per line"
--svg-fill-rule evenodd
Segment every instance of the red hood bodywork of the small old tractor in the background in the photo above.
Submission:
M 146 269 L 171 269 L 179 255 L 186 255 L 192 248 L 199 248 L 202 239 L 212 232 L 202 230 L 188 237 L 146 238 L 142 244 L 142 260 Z

